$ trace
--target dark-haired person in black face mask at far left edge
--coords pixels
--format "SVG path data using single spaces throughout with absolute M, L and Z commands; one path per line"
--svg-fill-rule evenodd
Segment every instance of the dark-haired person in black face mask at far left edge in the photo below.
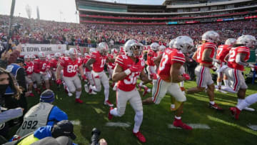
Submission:
M 14 80 L 12 79 L 11 74 L 9 74 L 9 72 L 7 72 L 6 70 L 0 68 L 0 108 L 1 110 L 2 110 L 2 106 L 6 107 L 4 94 L 7 88 L 14 91 L 14 94 L 11 97 L 14 97 L 15 99 L 19 99 L 19 96 L 21 94 L 21 89 L 19 89 L 18 86 L 14 84 Z M 9 127 L 6 125 L 6 121 L 22 116 L 23 109 L 21 108 L 11 109 L 11 110 L 5 109 L 6 111 L 3 111 L 3 112 L 1 110 L 0 110 L 0 136 L 7 138 Z M 0 144 L 2 144 L 2 141 L 5 140 L 3 137 L 0 137 Z

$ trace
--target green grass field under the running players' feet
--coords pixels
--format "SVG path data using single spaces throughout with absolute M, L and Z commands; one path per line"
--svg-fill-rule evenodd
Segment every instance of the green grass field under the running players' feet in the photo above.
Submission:
M 148 85 L 151 87 L 151 84 Z M 185 88 L 196 86 L 195 81 L 186 81 Z M 97 95 L 86 94 L 83 90 L 81 99 L 84 104 L 75 104 L 75 97 L 69 97 L 64 93 L 64 89 L 57 90 L 56 86 L 51 86 L 56 93 L 54 105 L 65 111 L 69 120 L 80 121 L 80 125 L 74 125 L 77 144 L 89 144 L 91 141 L 91 130 L 96 127 L 101 130 L 101 138 L 106 139 L 109 145 L 135 145 L 141 144 L 132 134 L 134 111 L 128 104 L 126 113 L 122 117 L 114 117 L 111 122 L 130 123 L 129 127 L 106 126 L 109 122 L 107 116 L 109 107 L 104 106 L 104 91 Z M 246 95 L 257 93 L 257 84 L 248 84 Z M 224 112 L 218 112 L 208 108 L 208 96 L 202 92 L 200 94 L 187 95 L 184 104 L 182 121 L 186 124 L 206 124 L 211 129 L 193 129 L 185 131 L 182 129 L 169 129 L 168 124 L 173 123 L 174 112 L 170 111 L 170 96 L 164 97 L 159 105 L 143 106 L 143 123 L 141 132 L 146 137 L 149 145 L 166 144 L 256 144 L 257 131 L 248 128 L 248 124 L 257 125 L 257 113 L 242 111 L 240 120 L 235 121 L 230 111 L 230 106 L 237 103 L 236 94 L 216 93 L 216 103 Z M 141 92 L 142 94 L 142 92 Z M 150 97 L 147 94 L 142 99 Z M 110 89 L 109 99 L 116 101 L 116 94 Z M 27 98 L 29 107 L 39 102 L 39 96 Z M 257 109 L 257 104 L 251 106 Z

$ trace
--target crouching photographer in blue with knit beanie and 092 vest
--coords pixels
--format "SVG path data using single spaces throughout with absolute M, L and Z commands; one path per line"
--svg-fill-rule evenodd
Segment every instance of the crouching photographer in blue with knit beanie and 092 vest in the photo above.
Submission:
M 41 94 L 39 101 L 39 104 L 32 106 L 24 115 L 24 122 L 16 132 L 16 135 L 24 136 L 41 126 L 53 126 L 59 121 L 68 119 L 64 111 L 52 105 L 54 102 L 54 92 L 50 89 L 46 89 Z

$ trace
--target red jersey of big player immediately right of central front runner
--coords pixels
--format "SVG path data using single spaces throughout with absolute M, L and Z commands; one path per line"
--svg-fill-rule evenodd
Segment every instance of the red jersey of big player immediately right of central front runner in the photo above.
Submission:
M 177 49 L 165 49 L 163 57 L 161 58 L 161 63 L 158 67 L 158 76 L 164 81 L 171 82 L 171 65 L 174 63 L 185 63 L 186 59 L 184 54 Z

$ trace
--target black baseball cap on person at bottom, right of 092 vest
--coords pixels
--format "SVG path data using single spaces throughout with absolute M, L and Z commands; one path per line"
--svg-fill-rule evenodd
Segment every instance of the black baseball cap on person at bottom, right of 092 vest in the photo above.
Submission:
M 74 134 L 74 126 L 69 120 L 59 121 L 53 126 L 51 133 L 55 138 L 59 136 L 69 136 L 73 140 L 76 139 L 76 135 Z

